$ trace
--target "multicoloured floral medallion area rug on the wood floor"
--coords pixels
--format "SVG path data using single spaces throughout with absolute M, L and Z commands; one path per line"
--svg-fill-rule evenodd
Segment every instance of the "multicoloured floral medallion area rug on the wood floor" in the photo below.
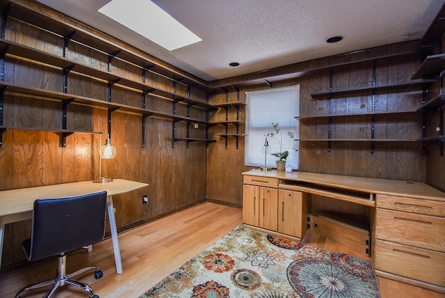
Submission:
M 147 297 L 380 297 L 371 262 L 237 226 Z

